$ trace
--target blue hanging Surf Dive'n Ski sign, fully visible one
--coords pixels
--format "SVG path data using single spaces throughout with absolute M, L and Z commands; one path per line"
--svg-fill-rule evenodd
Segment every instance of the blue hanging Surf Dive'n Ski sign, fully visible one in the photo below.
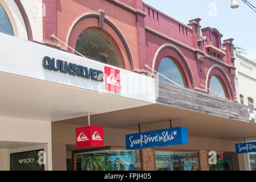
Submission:
M 187 127 L 148 131 L 126 135 L 126 150 L 174 146 L 188 143 Z

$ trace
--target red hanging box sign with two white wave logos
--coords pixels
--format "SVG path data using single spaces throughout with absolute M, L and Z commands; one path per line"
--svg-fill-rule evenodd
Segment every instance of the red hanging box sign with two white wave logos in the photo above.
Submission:
M 102 147 L 104 146 L 103 127 L 86 126 L 76 129 L 76 147 Z

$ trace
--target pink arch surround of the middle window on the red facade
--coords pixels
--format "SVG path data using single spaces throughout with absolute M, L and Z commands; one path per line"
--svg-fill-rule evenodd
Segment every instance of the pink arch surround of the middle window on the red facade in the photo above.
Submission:
M 186 88 L 194 89 L 195 84 L 191 72 L 191 68 L 188 65 L 187 60 L 183 53 L 175 46 L 171 44 L 163 44 L 156 51 L 154 60 L 152 63 L 152 69 L 158 71 L 160 62 L 164 57 L 170 58 L 176 64 L 181 76 L 183 77 L 184 85 Z M 152 72 L 153 73 L 153 72 Z

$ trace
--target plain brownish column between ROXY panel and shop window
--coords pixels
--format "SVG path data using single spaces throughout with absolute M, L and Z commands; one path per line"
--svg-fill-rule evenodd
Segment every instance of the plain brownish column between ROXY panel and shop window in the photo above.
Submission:
M 52 171 L 67 171 L 66 144 L 52 143 Z

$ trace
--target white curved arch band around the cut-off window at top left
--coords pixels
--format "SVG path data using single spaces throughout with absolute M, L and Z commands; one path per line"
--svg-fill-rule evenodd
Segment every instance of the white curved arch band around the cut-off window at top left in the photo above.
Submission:
M 5 2 L 9 7 L 11 14 L 14 17 L 16 27 L 18 29 L 18 37 L 21 39 L 27 40 L 27 30 L 22 18 L 22 14 L 20 13 L 16 3 L 13 0 L 1 0 L 1 2 Z

